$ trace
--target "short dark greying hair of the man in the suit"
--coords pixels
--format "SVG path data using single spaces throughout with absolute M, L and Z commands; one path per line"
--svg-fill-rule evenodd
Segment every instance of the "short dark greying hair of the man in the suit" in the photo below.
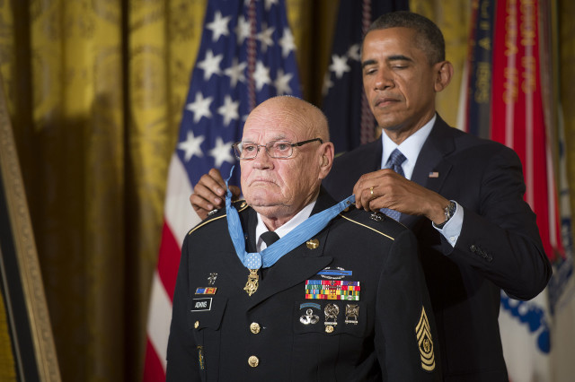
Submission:
M 427 17 L 409 11 L 384 13 L 375 22 L 371 23 L 366 35 L 372 30 L 386 30 L 388 28 L 409 28 L 415 30 L 418 48 L 423 50 L 428 56 L 429 64 L 434 65 L 445 61 L 446 41 L 443 39 L 443 33 Z

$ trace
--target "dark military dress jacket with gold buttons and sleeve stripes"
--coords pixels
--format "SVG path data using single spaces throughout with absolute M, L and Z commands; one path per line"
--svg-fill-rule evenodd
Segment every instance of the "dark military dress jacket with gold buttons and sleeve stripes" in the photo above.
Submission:
M 332 204 L 322 193 L 314 213 Z M 256 213 L 236 208 L 253 250 Z M 411 230 L 351 207 L 314 239 L 317 247 L 303 243 L 267 268 L 250 297 L 243 291 L 248 270 L 235 254 L 225 211 L 191 230 L 173 298 L 167 380 L 440 380 L 434 343 L 425 343 L 426 330 L 431 340 L 438 334 Z M 341 280 L 360 282 L 358 301 L 305 299 L 306 280 L 338 281 L 317 274 L 326 267 L 351 272 Z M 217 273 L 216 293 L 197 294 L 210 286 L 210 273 Z M 328 304 L 339 308 L 332 333 Z M 345 322 L 355 320 L 346 314 L 348 305 L 358 305 L 357 323 Z M 252 333 L 252 323 L 259 333 Z M 426 357 L 432 362 L 431 352 L 429 371 L 422 365 Z M 251 356 L 257 367 L 248 364 Z

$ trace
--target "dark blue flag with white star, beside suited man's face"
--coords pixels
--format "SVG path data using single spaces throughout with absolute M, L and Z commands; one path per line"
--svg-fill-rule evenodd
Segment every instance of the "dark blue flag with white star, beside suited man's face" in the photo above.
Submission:
M 375 119 L 361 80 L 361 40 L 384 13 L 408 10 L 408 0 L 341 0 L 328 72 L 323 78 L 322 109 L 330 123 L 335 152 L 374 140 Z

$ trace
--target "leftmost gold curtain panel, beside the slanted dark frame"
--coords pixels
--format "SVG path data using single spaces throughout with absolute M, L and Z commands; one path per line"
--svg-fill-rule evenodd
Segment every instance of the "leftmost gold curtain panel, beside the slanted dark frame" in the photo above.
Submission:
M 14 50 L 26 49 L 19 54 L 28 61 L 22 57 L 13 91 L 30 95 L 15 105 L 14 118 L 30 113 L 30 120 L 14 128 L 25 129 L 19 149 L 29 145 L 22 173 L 61 374 L 105 380 L 123 371 L 122 357 L 111 354 L 126 349 L 122 6 L 17 6 L 22 18 L 14 18 L 15 27 L 28 41 L 16 41 Z

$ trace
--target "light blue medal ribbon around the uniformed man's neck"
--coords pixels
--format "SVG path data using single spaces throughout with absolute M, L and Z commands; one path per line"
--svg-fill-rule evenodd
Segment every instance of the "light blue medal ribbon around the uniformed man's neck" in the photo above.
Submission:
M 232 178 L 226 179 L 227 182 Z M 340 203 L 333 205 L 321 213 L 315 213 L 308 219 L 299 224 L 295 229 L 288 232 L 286 236 L 273 243 L 270 247 L 265 248 L 261 253 L 248 253 L 245 251 L 245 240 L 243 239 L 242 224 L 240 223 L 240 216 L 232 205 L 232 192 L 227 187 L 226 192 L 226 213 L 227 213 L 227 230 L 229 230 L 230 237 L 234 242 L 235 253 L 240 258 L 242 264 L 248 269 L 260 269 L 274 265 L 281 256 L 286 255 L 292 249 L 302 244 L 307 239 L 312 238 L 320 230 L 335 217 L 338 213 L 345 210 L 350 204 L 355 203 L 355 196 L 351 195 Z

